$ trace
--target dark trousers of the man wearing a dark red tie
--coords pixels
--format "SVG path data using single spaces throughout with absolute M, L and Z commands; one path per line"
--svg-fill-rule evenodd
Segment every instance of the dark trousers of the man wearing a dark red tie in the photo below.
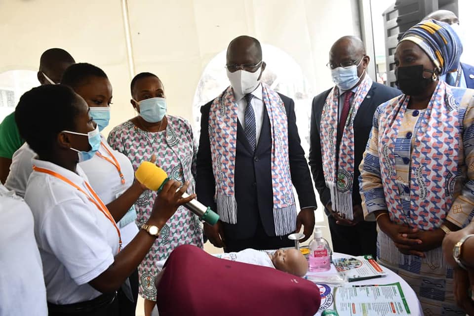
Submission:
M 355 226 L 337 225 L 336 220 L 329 216 L 329 231 L 331 232 L 334 252 L 352 256 L 377 255 L 377 223 L 360 222 Z

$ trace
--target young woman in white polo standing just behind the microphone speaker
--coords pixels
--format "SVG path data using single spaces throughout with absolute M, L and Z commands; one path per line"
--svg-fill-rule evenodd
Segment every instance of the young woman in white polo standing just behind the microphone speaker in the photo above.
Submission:
M 72 87 L 86 101 L 90 109 L 89 115 L 102 132 L 109 123 L 112 104 L 112 85 L 104 71 L 88 63 L 74 64 L 64 72 L 61 82 Z M 36 153 L 26 143 L 13 155 L 5 187 L 21 197 L 25 196 L 28 178 L 33 171 L 31 161 L 35 156 Z M 139 182 L 134 182 L 130 160 L 113 150 L 101 135 L 96 155 L 79 162 L 79 165 L 89 179 L 89 184 L 109 210 L 127 210 L 117 223 L 122 246 L 126 246 L 138 233 L 134 203 L 145 191 L 145 187 Z M 120 315 L 134 316 L 138 299 L 138 270 L 133 271 L 117 296 Z

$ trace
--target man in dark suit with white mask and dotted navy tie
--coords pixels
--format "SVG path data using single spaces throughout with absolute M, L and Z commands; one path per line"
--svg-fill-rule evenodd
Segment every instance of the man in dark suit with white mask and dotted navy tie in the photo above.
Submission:
M 226 252 L 291 246 L 288 234 L 303 225 L 308 239 L 315 225 L 316 197 L 294 102 L 260 82 L 265 66 L 258 40 L 232 40 L 231 86 L 201 107 L 197 199 L 219 213 L 221 221 L 205 224 L 204 234 Z

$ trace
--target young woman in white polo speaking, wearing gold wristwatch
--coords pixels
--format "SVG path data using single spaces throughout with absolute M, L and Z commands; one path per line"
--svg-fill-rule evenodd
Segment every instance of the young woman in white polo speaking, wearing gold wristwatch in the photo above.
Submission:
M 180 183 L 167 182 L 147 224 L 120 250 L 116 222 L 127 210 L 109 210 L 78 165 L 101 146 L 87 103 L 70 87 L 40 86 L 21 97 L 15 119 L 38 154 L 25 200 L 35 219 L 49 315 L 116 315 L 116 291 L 177 207 L 195 195 L 183 199 L 188 184 L 176 191 Z

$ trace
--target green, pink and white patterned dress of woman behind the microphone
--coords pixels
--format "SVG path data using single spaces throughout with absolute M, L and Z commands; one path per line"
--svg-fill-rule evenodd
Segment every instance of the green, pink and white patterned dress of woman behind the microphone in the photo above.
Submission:
M 166 116 L 166 130 L 152 133 L 144 131 L 130 121 L 115 127 L 109 134 L 108 142 L 112 148 L 127 156 L 136 170 L 140 163 L 150 160 L 153 154 L 156 164 L 163 168 L 171 179 L 184 183 L 191 181 L 188 194 L 195 192 L 196 143 L 188 121 L 183 118 Z M 149 219 L 156 192 L 146 190 L 137 200 L 137 225 L 140 227 Z M 155 276 L 156 262 L 166 259 L 171 251 L 179 245 L 202 244 L 202 224 L 197 216 L 185 207 L 178 208 L 176 213 L 161 229 L 160 237 L 155 241 L 145 259 L 138 266 L 140 294 L 148 300 L 156 301 L 157 289 Z

